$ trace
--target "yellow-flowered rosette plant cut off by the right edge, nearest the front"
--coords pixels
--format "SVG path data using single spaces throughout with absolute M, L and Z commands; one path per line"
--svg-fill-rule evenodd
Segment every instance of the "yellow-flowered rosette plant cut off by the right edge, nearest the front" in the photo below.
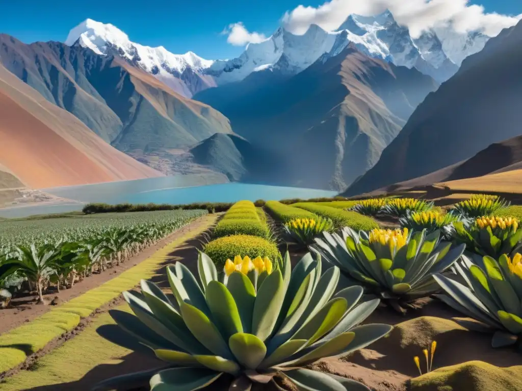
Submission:
M 493 347 L 515 345 L 522 336 L 522 255 L 502 254 L 498 261 L 484 256 L 480 262 L 464 256 L 456 270 L 466 285 L 436 274 L 446 293 L 436 296 L 486 327 L 479 331 L 494 333 Z

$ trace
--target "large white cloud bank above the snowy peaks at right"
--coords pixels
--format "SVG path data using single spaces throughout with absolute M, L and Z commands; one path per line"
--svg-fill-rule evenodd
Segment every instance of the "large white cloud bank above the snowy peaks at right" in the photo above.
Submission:
M 468 0 L 331 0 L 317 8 L 300 5 L 283 16 L 283 23 L 296 34 L 303 34 L 313 23 L 325 30 L 335 30 L 350 14 L 372 16 L 386 9 L 414 37 L 423 30 L 448 23 L 458 32 L 480 29 L 494 36 L 522 19 L 522 14 L 486 14 L 484 7 L 471 5 Z

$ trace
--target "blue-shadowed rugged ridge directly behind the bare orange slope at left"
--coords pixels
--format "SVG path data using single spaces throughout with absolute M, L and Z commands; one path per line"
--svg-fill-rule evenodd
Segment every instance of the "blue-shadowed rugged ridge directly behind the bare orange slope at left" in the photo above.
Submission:
M 0 62 L 116 149 L 147 162 L 230 133 L 215 109 L 189 100 L 120 58 L 58 42 L 26 45 L 0 35 Z M 168 164 L 168 163 L 167 163 Z

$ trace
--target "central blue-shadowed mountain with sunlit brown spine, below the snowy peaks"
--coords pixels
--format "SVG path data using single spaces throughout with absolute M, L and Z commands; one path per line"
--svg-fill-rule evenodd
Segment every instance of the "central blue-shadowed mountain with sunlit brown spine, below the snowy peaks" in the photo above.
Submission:
M 246 78 L 194 99 L 216 107 L 250 142 L 286 156 L 287 184 L 334 189 L 371 167 L 437 88 L 419 71 L 368 57 L 351 44 L 278 81 L 256 88 Z

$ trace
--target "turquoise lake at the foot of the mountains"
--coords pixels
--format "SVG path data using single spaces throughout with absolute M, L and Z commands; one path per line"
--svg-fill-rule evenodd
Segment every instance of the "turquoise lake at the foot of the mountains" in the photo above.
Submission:
M 334 197 L 331 190 L 305 189 L 268 185 L 227 183 L 183 187 L 176 177 L 161 177 L 97 185 L 44 189 L 55 196 L 78 203 L 52 205 L 32 204 L 0 209 L 0 217 L 26 217 L 35 214 L 63 213 L 81 210 L 84 203 L 157 203 L 188 204 L 192 202 L 235 202 L 239 200 L 281 200 L 286 198 Z

